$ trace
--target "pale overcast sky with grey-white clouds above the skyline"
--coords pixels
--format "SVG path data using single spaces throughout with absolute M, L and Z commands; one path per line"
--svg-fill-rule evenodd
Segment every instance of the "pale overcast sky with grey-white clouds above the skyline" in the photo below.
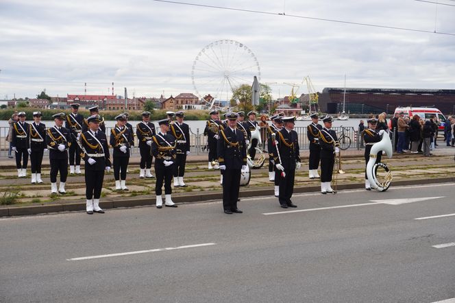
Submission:
M 455 6 L 414 0 L 188 2 L 455 34 Z M 255 54 L 275 97 L 306 75 L 317 90 L 343 87 L 345 74 L 347 87 L 455 89 L 455 36 L 153 0 L 0 0 L 0 99 L 82 94 L 84 82 L 88 94 L 112 82 L 129 97 L 195 93 L 195 57 L 220 39 Z

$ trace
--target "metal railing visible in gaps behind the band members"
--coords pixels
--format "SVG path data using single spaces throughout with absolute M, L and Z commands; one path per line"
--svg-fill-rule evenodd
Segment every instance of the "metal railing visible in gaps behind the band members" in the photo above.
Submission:
M 340 136 L 342 132 L 342 127 L 334 127 L 333 128 L 337 134 Z M 358 130 L 354 128 L 343 128 L 345 136 L 348 136 L 351 139 L 351 145 L 349 149 L 360 149 L 360 134 Z M 8 156 L 8 149 L 10 147 L 10 143 L 6 141 L 6 136 L 8 135 L 8 127 L 1 127 L 0 128 L 0 157 L 5 158 Z M 111 128 L 106 128 L 106 134 L 109 136 Z M 299 138 L 299 147 L 300 149 L 308 149 L 310 147 L 310 142 L 308 141 L 308 137 L 306 136 L 307 128 L 306 127 L 296 127 L 295 132 L 297 132 Z M 267 149 L 267 129 L 261 128 L 261 138 L 262 144 L 258 145 L 260 149 Z M 132 155 L 138 155 L 138 140 L 135 136 L 135 146 L 132 149 Z M 192 130 L 190 129 L 190 152 L 191 154 L 207 154 L 207 136 L 204 136 L 204 130 L 200 130 L 199 128 Z

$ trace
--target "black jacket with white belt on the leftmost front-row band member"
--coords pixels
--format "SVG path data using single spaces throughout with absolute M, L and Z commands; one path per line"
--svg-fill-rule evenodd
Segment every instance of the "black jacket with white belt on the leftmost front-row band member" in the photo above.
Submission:
M 81 144 L 85 149 L 85 151 L 81 151 L 81 158 L 85 161 L 86 171 L 103 171 L 106 167 L 110 167 L 108 138 L 106 138 L 106 134 L 101 130 L 97 131 L 97 140 L 93 138 L 95 135 L 92 136 L 92 134 L 93 132 L 91 130 L 87 130 L 81 134 Z M 88 158 L 93 158 L 97 162 L 90 165 Z

